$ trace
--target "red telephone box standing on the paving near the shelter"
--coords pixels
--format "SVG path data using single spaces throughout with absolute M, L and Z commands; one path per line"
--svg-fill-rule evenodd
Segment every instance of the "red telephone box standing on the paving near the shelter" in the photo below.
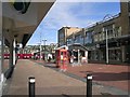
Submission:
M 68 64 L 68 52 L 67 50 L 56 50 L 56 67 L 60 68 L 61 70 L 66 70 L 67 69 L 67 64 Z

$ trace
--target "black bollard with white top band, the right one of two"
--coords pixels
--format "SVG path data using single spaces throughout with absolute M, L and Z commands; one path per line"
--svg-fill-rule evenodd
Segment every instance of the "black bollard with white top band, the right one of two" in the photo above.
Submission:
M 87 97 L 92 97 L 92 74 L 87 74 Z

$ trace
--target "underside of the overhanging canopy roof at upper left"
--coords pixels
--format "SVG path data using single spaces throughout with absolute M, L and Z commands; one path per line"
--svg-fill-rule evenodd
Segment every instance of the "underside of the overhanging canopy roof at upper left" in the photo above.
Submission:
M 6 45 L 15 38 L 17 43 L 26 45 L 40 22 L 54 2 L 30 2 L 26 13 L 21 13 L 10 2 L 2 3 L 2 29 Z M 18 3 L 20 4 L 20 3 Z

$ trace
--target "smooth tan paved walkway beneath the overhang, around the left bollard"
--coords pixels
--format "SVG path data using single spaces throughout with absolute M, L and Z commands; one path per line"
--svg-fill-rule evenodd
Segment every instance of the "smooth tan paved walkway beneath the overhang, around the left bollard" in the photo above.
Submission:
M 42 64 L 28 59 L 18 60 L 12 79 L 6 83 L 4 95 L 28 95 L 28 78 L 31 75 L 36 78 L 36 95 L 62 95 L 65 97 L 86 95 L 86 82 L 74 79 L 58 70 L 44 67 Z M 113 88 L 99 84 L 93 85 L 92 92 L 93 95 L 126 95 L 121 91 L 116 89 L 115 92 Z

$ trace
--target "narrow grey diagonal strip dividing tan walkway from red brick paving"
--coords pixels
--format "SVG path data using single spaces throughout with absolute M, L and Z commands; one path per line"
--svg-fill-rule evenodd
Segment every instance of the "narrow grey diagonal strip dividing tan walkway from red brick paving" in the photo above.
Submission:
M 34 61 L 34 63 L 37 63 L 37 61 Z M 37 63 L 37 64 L 42 65 L 41 63 Z M 43 66 L 43 67 L 47 67 L 47 68 L 50 68 L 50 67 L 48 67 L 47 65 L 42 65 L 42 66 Z M 70 72 L 67 72 L 67 71 L 66 71 L 66 72 L 60 71 L 57 68 L 50 68 L 50 69 L 55 70 L 55 71 L 61 72 L 61 73 L 63 73 L 63 74 L 65 74 L 65 75 L 68 75 L 68 77 L 70 77 L 70 78 L 74 78 L 74 79 L 76 79 L 76 80 L 80 80 L 80 81 L 87 83 L 87 79 L 81 78 L 81 77 L 79 77 L 79 75 L 76 75 L 76 74 L 74 74 L 74 73 L 70 73 Z M 122 91 L 122 89 L 120 89 L 120 88 L 117 88 L 117 87 L 115 87 L 115 86 L 108 86 L 108 85 L 105 85 L 105 84 L 102 84 L 102 83 L 99 83 L 99 82 L 92 82 L 92 84 L 93 84 L 93 85 L 103 86 L 103 87 L 105 87 L 105 89 L 108 89 L 108 91 L 112 89 L 113 92 L 115 92 L 115 93 L 117 93 L 117 94 L 128 95 L 128 96 L 130 97 L 129 92 L 125 92 L 125 91 Z

